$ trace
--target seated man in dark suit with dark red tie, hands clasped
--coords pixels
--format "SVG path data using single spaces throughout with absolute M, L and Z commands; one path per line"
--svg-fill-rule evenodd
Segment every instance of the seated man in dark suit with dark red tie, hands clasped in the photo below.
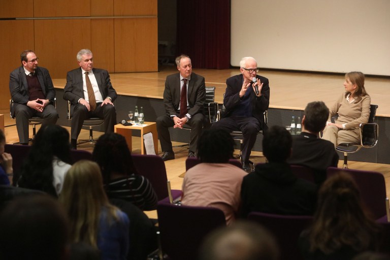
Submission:
M 191 59 L 187 55 L 177 57 L 176 65 L 179 73 L 169 75 L 165 81 L 164 105 L 167 113 L 156 120 L 163 160 L 175 158 L 168 128 L 182 128 L 184 124 L 191 126 L 188 157 L 194 157 L 204 120 L 205 78 L 192 73 Z

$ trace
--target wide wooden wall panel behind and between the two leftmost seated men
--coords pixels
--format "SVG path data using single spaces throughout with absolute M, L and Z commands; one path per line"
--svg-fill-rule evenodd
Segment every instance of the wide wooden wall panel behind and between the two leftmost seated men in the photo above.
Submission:
M 35 21 L 36 54 L 52 78 L 66 78 L 78 67 L 76 54 L 91 48 L 90 19 Z

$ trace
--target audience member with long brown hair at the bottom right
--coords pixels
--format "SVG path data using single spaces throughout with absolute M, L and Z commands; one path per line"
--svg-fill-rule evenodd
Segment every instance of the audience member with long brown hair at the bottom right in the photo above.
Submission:
M 379 226 L 362 206 L 359 189 L 343 173 L 328 178 L 319 189 L 312 225 L 301 234 L 305 259 L 352 259 L 375 250 Z

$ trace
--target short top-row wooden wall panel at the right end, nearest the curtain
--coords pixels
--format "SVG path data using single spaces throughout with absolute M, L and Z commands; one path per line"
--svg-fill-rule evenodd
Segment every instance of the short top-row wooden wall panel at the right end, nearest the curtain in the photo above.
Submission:
M 115 0 L 116 16 L 157 15 L 157 0 Z

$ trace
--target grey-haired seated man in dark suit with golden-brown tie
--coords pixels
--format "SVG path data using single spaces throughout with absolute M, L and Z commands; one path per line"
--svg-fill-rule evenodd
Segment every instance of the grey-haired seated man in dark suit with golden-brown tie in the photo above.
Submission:
M 77 53 L 80 68 L 68 72 L 63 99 L 71 102 L 71 145 L 76 149 L 84 119 L 104 118 L 105 132 L 114 132 L 117 97 L 106 70 L 93 68 L 93 55 L 88 49 Z

